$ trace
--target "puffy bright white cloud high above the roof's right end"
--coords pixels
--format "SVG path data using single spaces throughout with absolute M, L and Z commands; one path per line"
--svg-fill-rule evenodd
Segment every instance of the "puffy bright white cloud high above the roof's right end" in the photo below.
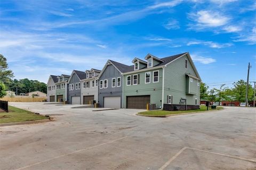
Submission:
M 230 20 L 227 16 L 219 12 L 201 10 L 196 13 L 190 13 L 189 17 L 194 20 L 199 27 L 220 27 Z

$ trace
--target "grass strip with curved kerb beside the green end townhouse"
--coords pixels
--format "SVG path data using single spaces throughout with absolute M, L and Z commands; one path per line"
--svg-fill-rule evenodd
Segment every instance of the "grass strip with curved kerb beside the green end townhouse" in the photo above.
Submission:
M 217 109 L 222 109 L 223 107 L 217 107 Z M 209 111 L 211 110 L 217 110 L 217 109 L 211 109 L 209 107 Z M 164 116 L 164 115 L 172 115 L 172 114 L 179 114 L 179 113 L 190 113 L 190 112 L 204 112 L 207 111 L 206 106 L 200 106 L 200 109 L 195 110 L 189 110 L 189 111 L 147 111 L 147 112 L 140 112 L 139 114 L 142 115 L 152 115 L 152 116 Z

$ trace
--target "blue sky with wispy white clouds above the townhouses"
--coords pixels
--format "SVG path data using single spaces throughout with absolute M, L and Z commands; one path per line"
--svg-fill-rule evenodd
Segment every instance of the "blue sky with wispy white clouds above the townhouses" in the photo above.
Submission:
M 4 1 L 0 53 L 16 79 L 189 52 L 203 82 L 256 80 L 255 1 Z

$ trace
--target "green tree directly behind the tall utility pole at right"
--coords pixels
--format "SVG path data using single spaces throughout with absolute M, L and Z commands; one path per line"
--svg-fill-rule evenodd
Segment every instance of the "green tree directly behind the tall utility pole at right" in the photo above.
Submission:
M 239 80 L 233 83 L 234 85 L 234 96 L 235 100 L 239 102 L 245 102 L 245 95 L 246 95 L 246 82 L 244 80 Z M 253 88 L 251 84 L 249 84 L 248 89 L 248 100 L 253 101 Z

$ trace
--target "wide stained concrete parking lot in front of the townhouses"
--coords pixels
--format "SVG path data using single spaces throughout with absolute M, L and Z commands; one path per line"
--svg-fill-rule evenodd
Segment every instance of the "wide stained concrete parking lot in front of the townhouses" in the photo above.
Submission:
M 255 108 L 153 118 L 135 109 L 11 105 L 55 121 L 0 127 L 0 169 L 256 169 Z

